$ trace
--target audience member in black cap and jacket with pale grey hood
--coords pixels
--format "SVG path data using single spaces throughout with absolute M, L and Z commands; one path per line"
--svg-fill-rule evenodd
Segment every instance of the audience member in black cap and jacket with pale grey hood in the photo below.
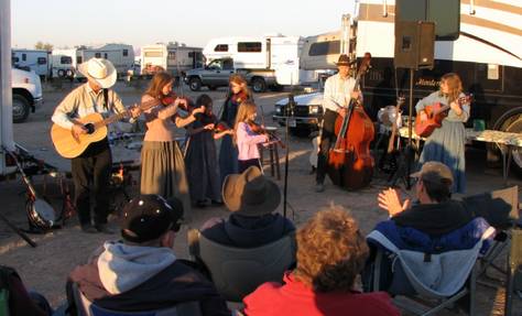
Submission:
M 121 312 L 164 309 L 199 302 L 203 315 L 230 315 L 214 284 L 178 260 L 173 251 L 183 204 L 141 195 L 122 210 L 121 241 L 107 241 L 101 253 L 77 266 L 67 282 L 102 308 Z

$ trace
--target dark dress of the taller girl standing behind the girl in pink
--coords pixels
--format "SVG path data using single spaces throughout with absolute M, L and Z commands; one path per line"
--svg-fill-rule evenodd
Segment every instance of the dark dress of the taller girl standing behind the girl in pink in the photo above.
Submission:
M 225 103 L 220 120 L 226 122 L 230 128 L 236 123 L 239 103 L 229 97 Z M 219 173 L 221 185 L 229 174 L 238 173 L 238 149 L 233 145 L 232 137 L 225 135 L 221 138 L 221 146 L 219 148 Z

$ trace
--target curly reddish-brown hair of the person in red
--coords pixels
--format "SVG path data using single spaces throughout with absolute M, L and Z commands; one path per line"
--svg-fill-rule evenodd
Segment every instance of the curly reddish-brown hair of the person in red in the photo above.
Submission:
M 342 207 L 319 210 L 296 239 L 298 281 L 318 292 L 352 288 L 369 250 L 356 220 Z

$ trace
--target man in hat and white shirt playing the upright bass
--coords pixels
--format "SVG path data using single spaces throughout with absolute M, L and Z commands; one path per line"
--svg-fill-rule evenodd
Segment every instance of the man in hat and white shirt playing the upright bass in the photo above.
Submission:
M 323 98 L 323 127 L 320 131 L 319 153 L 317 154 L 316 192 L 325 190 L 325 176 L 328 164 L 328 151 L 335 143 L 335 121 L 337 116 L 345 116 L 350 98 L 359 99 L 361 94 L 354 90 L 356 80 L 350 77 L 350 58 L 341 54 L 336 63 L 339 70 L 325 83 Z

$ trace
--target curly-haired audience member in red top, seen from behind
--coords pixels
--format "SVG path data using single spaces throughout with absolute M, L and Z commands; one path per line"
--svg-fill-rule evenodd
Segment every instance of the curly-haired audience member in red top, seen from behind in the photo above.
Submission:
M 385 293 L 354 290 L 368 257 L 356 220 L 341 207 L 317 213 L 297 231 L 297 268 L 244 297 L 255 315 L 400 315 Z

